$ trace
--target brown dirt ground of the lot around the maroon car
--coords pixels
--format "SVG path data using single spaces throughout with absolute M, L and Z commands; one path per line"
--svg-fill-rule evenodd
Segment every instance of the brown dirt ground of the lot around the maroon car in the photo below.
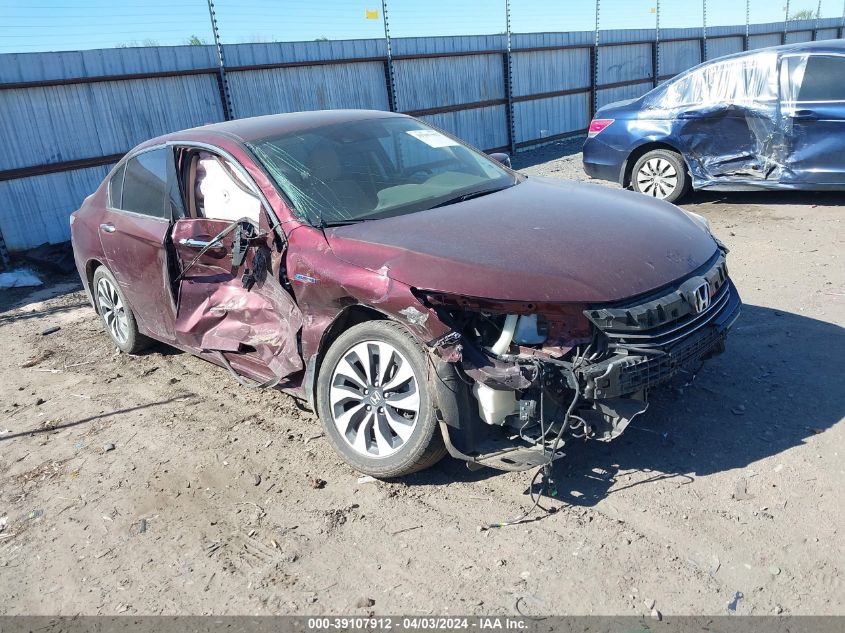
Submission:
M 515 164 L 583 179 L 574 151 Z M 843 202 L 687 200 L 745 302 L 727 352 L 572 445 L 557 513 L 487 531 L 530 473 L 361 482 L 291 398 L 116 354 L 78 280 L 6 291 L 0 612 L 845 614 Z

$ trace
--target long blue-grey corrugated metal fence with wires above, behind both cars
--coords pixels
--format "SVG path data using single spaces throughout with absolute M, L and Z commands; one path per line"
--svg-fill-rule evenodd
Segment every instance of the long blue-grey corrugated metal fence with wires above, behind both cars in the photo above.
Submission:
M 487 151 L 520 151 L 584 134 L 598 107 L 640 96 L 703 60 L 845 35 L 845 6 L 824 17 L 818 2 L 814 17 L 792 19 L 792 0 L 782 21 L 753 23 L 762 1 L 746 0 L 744 24 L 721 24 L 707 0 L 599 0 L 586 10 L 578 4 L 592 30 L 565 31 L 558 5 L 498 0 L 476 25 L 492 33 L 396 37 L 415 31 L 419 5 L 384 0 L 380 37 L 244 43 L 221 37 L 225 22 L 209 3 L 209 44 L 2 54 L 0 250 L 3 238 L 12 251 L 67 240 L 68 215 L 111 165 L 173 130 L 374 108 L 423 118 Z M 653 27 L 625 28 L 632 6 L 653 9 Z M 539 12 L 561 29 L 524 32 Z

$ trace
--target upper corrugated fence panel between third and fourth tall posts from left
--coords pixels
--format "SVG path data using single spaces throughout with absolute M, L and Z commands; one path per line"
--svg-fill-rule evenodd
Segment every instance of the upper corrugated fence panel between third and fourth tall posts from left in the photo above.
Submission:
M 532 51 L 511 54 L 514 96 L 590 86 L 590 50 Z

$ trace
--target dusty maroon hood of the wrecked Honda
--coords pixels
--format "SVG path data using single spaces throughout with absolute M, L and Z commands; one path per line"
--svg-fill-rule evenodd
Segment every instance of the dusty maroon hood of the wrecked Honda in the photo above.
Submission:
M 675 281 L 717 246 L 675 206 L 548 178 L 335 227 L 335 255 L 410 286 L 514 301 L 606 302 Z

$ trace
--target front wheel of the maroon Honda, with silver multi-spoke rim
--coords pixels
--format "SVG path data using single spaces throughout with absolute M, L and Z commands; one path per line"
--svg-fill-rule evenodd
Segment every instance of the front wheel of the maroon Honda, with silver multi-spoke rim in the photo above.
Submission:
M 356 470 L 400 477 L 446 454 L 431 391 L 431 364 L 391 321 L 360 323 L 322 361 L 317 410 L 332 447 Z

